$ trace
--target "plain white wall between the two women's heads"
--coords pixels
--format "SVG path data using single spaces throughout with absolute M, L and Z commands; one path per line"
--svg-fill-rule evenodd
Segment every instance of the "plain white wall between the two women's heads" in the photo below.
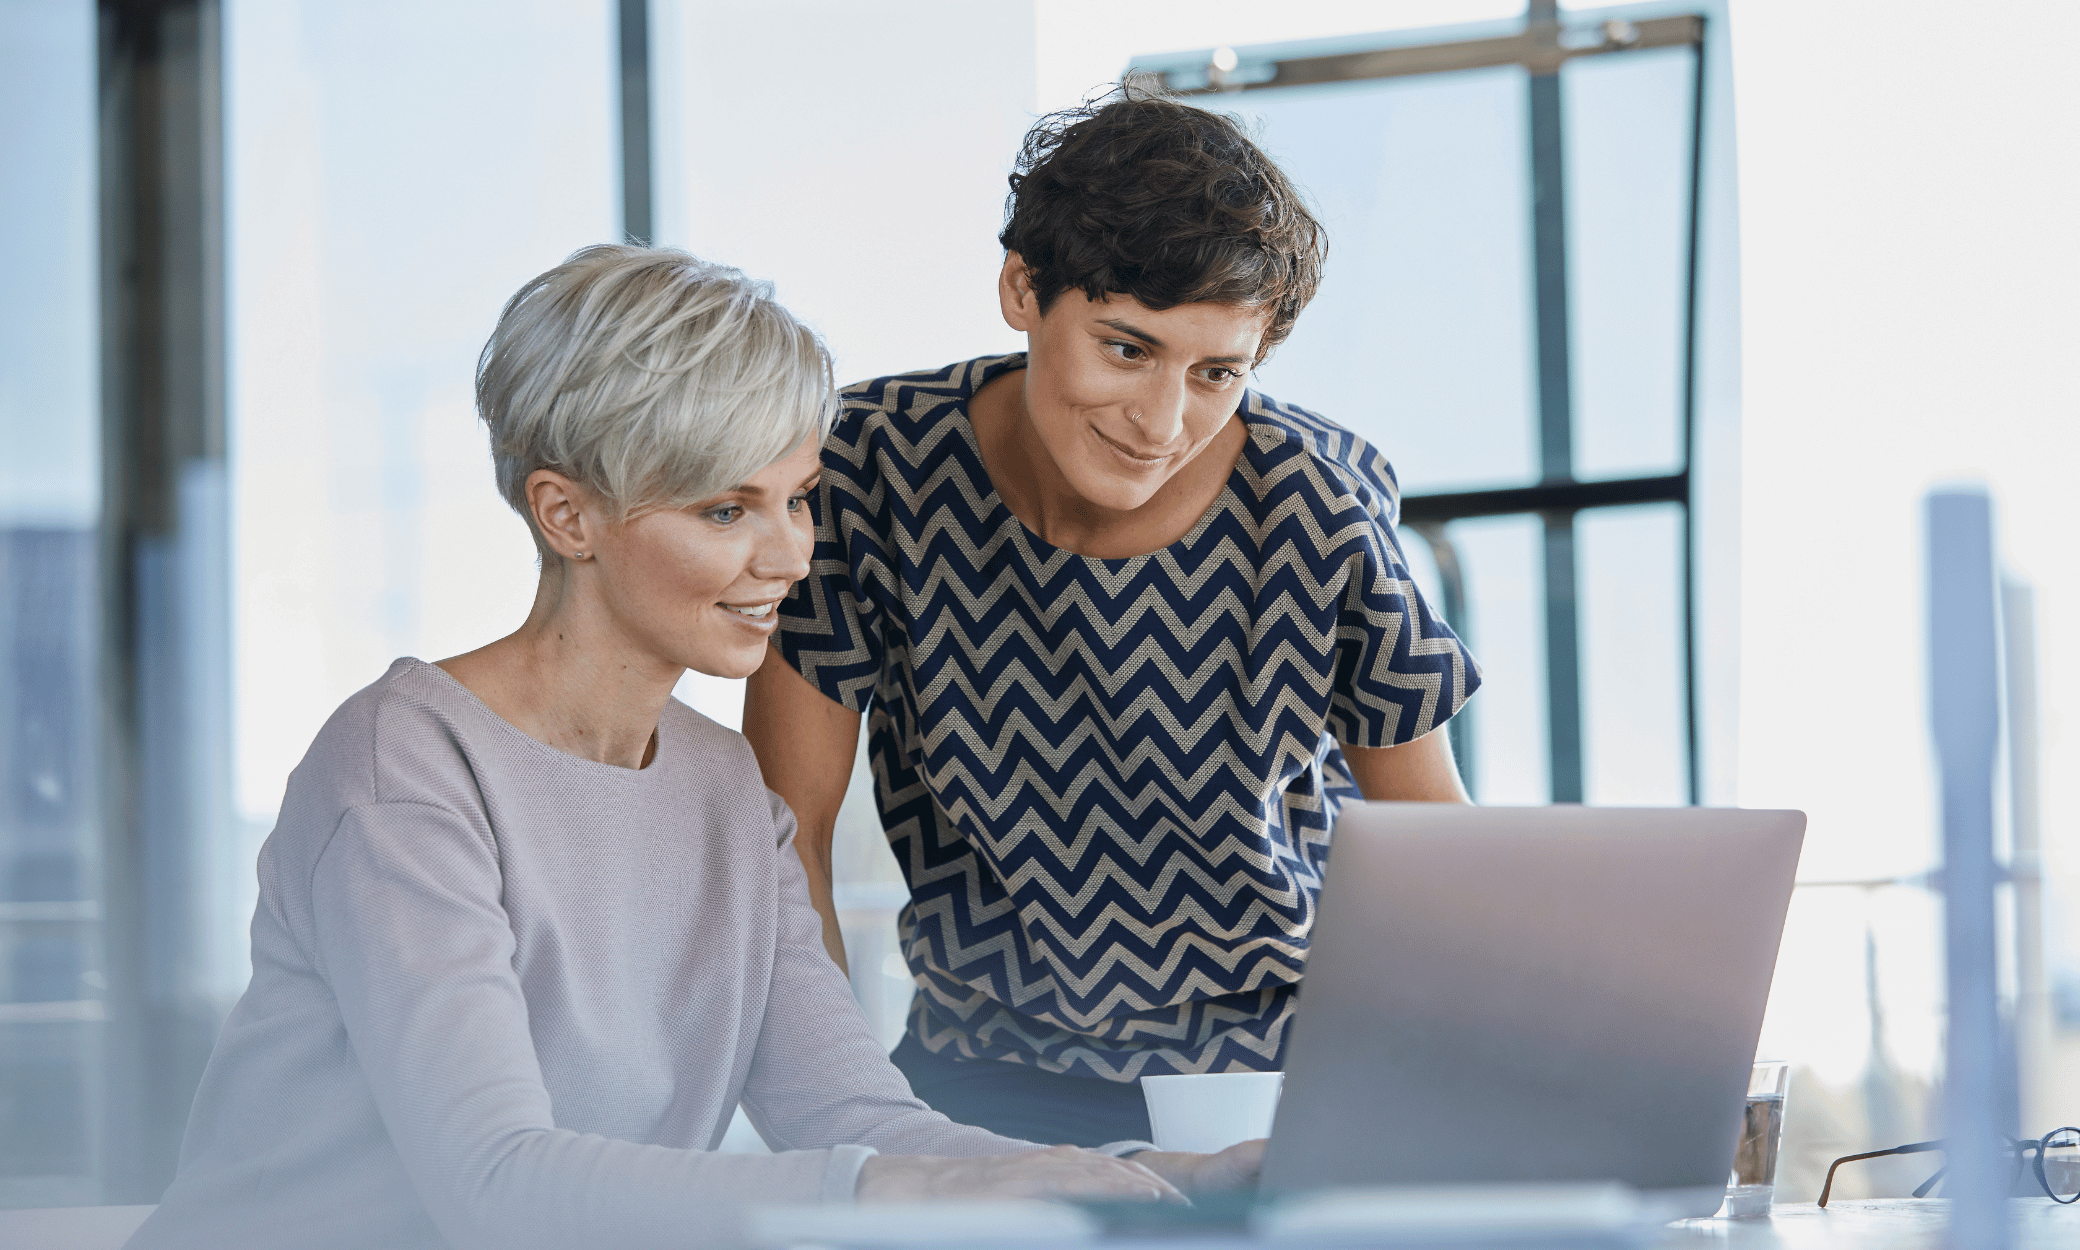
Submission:
M 1023 341 L 996 312 L 1030 0 L 655 0 L 661 243 L 770 279 L 838 381 Z M 743 682 L 680 697 L 736 724 Z

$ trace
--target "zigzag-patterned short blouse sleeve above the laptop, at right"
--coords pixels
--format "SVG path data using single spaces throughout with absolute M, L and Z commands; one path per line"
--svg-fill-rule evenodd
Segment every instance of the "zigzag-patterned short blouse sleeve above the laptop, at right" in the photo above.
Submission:
M 1394 470 L 1356 439 L 1340 451 L 1348 458 L 1325 468 L 1364 520 L 1335 622 L 1329 732 L 1350 747 L 1398 747 L 1452 720 L 1481 668 L 1408 572 Z

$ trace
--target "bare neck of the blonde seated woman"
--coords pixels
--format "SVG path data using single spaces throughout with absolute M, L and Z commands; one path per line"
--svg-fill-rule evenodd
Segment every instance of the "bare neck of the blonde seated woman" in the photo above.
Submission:
M 512 634 L 439 668 L 535 738 L 620 767 L 647 767 L 680 672 L 636 647 L 601 605 L 545 568 L 535 609 Z

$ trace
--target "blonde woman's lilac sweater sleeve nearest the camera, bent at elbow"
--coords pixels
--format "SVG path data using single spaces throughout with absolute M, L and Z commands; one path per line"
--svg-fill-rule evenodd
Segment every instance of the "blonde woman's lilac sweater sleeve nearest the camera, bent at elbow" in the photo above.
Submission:
M 497 857 L 456 813 L 349 809 L 312 871 L 312 926 L 383 1127 L 451 1246 L 732 1244 L 749 1204 L 851 1196 L 857 1146 L 713 1154 L 560 1129 Z

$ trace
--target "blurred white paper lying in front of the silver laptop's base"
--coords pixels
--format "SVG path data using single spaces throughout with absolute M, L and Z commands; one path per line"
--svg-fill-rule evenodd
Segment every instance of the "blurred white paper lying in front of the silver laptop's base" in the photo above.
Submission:
M 1620 1233 L 1643 1221 L 1639 1194 L 1593 1186 L 1394 1186 L 1327 1190 L 1258 1210 L 1250 1225 L 1267 1242 L 1337 1235 L 1581 1235 Z

